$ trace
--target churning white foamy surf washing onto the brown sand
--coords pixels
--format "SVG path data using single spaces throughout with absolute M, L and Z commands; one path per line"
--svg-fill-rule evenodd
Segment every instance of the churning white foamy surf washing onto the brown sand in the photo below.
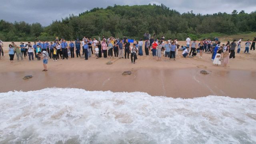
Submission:
M 46 88 L 0 93 L 0 144 L 255 144 L 256 100 Z

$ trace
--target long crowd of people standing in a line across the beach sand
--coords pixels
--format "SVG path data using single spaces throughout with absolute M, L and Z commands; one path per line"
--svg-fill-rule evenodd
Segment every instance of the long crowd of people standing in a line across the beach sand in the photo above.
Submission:
M 129 42 L 130 40 L 125 36 L 123 39 L 114 37 L 106 39 L 103 36 L 102 41 L 100 38 L 97 40 L 96 38 L 91 39 L 84 36 L 84 38 L 82 38 L 82 42 L 80 42 L 79 38 L 77 38 L 74 42 L 70 40 L 69 44 L 66 42 L 66 40 L 58 40 L 58 38 L 56 38 L 54 42 L 50 43 L 48 41 L 41 42 L 39 40 L 38 42 L 34 42 L 34 44 L 31 44 L 30 42 L 28 42 L 28 44 L 24 44 L 21 42 L 20 45 L 17 45 L 12 42 L 12 44 L 9 44 L 8 53 L 11 63 L 14 60 L 15 53 L 18 61 L 20 58 L 23 60 L 23 56 L 24 58 L 28 56 L 29 61 L 34 60 L 34 56 L 37 60 L 43 59 L 43 71 L 47 71 L 46 64 L 48 63 L 48 58 L 53 59 L 54 61 L 57 61 L 58 59 L 68 59 L 69 56 L 71 58 L 75 58 L 74 53 L 76 53 L 76 57 L 81 57 L 81 55 L 84 56 L 85 60 L 91 58 L 92 54 L 94 53 L 96 59 L 101 57 L 109 59 L 113 57 L 129 59 L 130 56 L 131 62 L 135 64 L 137 53 L 139 56 L 143 56 L 143 53 L 145 53 L 146 56 L 149 56 L 149 51 L 152 51 L 153 59 L 161 61 L 163 54 L 164 61 L 170 61 L 172 59 L 176 60 L 178 51 L 182 51 L 182 56 L 184 58 L 188 56 L 194 57 L 197 54 L 199 54 L 199 58 L 202 58 L 203 52 L 207 52 L 208 54 L 212 54 L 213 64 L 216 66 L 220 64 L 227 66 L 229 59 L 235 58 L 236 47 L 237 53 L 240 53 L 241 41 L 243 40 L 243 38 L 241 38 L 238 40 L 238 42 L 233 40 L 231 43 L 228 41 L 226 44 L 221 45 L 218 39 L 215 39 L 214 42 L 212 42 L 210 39 L 204 39 L 197 43 L 196 40 L 191 41 L 188 36 L 186 39 L 186 46 L 180 47 L 178 44 L 178 39 L 172 40 L 170 38 L 165 40 L 164 36 L 162 36 L 161 39 L 158 40 L 155 37 L 155 34 L 151 37 L 150 34 L 145 33 L 145 43 L 143 42 L 142 38 L 139 41 L 132 40 L 132 42 Z M 247 40 L 245 43 L 244 53 L 249 52 L 249 47 L 250 50 L 255 50 L 255 42 L 256 38 L 254 38 L 252 43 L 250 40 Z M 144 52 L 142 50 L 143 46 Z M 1 54 L 4 56 L 2 47 L 3 43 L 0 41 L 0 58 Z M 81 52 L 82 54 L 80 54 Z

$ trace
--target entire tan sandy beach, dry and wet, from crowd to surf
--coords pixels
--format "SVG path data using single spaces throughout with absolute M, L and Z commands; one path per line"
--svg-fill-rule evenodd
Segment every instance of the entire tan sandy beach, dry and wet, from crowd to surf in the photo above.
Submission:
M 69 58 L 54 62 L 49 59 L 48 72 L 42 72 L 42 60 L 28 62 L 26 57 L 24 61 L 17 62 L 14 56 L 14 63 L 11 64 L 8 44 L 10 42 L 4 42 L 5 57 L 0 60 L 0 92 L 60 87 L 113 92 L 139 91 L 173 98 L 217 95 L 256 99 L 256 52 L 243 54 L 244 42 L 241 53 L 230 60 L 227 68 L 223 65 L 214 66 L 211 54 L 204 53 L 202 59 L 198 56 L 182 58 L 182 52 L 179 51 L 176 61 L 170 62 L 153 60 L 152 53 L 150 56 L 138 56 L 136 64 L 131 64 L 130 59 L 111 59 L 113 64 L 106 65 L 109 59 L 96 59 L 94 56 L 87 61 Z M 179 44 L 185 45 L 185 42 L 179 41 Z M 126 70 L 132 71 L 132 74 L 122 76 Z M 200 70 L 207 70 L 210 74 L 202 75 Z M 33 78 L 23 80 L 26 75 L 32 75 Z

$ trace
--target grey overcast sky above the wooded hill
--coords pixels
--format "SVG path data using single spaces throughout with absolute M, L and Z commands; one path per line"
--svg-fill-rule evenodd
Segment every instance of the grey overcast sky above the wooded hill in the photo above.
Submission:
M 40 22 L 48 26 L 53 20 L 61 20 L 69 14 L 78 15 L 95 7 L 149 3 L 162 3 L 181 14 L 191 10 L 196 14 L 230 14 L 233 10 L 250 13 L 256 10 L 255 0 L 1 0 L 0 19 L 8 22 Z

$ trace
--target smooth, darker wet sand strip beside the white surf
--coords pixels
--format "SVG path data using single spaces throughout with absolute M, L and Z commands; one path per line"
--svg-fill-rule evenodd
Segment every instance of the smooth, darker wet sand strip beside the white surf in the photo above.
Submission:
M 1 92 L 41 90 L 44 88 L 82 88 L 88 91 L 146 92 L 151 96 L 172 98 L 196 98 L 209 95 L 232 98 L 256 99 L 254 79 L 256 72 L 244 70 L 208 70 L 200 74 L 200 68 L 179 70 L 133 69 L 132 74 L 122 76 L 123 71 L 108 72 L 50 72 L 37 71 L 2 73 L 5 85 Z M 23 80 L 31 74 L 33 78 Z M 150 76 L 153 76 L 149 78 Z M 241 75 L 242 77 L 237 77 Z M 238 83 L 239 82 L 239 83 Z

